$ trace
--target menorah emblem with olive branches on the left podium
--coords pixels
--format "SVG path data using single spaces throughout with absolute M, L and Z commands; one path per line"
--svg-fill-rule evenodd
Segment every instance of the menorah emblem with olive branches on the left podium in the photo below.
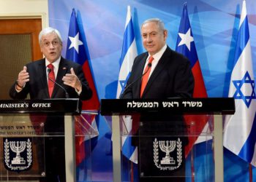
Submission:
M 31 138 L 4 138 L 4 167 L 20 173 L 32 167 Z

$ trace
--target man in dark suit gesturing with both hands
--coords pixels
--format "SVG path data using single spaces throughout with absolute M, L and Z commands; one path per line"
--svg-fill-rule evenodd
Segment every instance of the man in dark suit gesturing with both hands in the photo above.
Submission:
M 28 94 L 31 99 L 67 98 L 67 92 L 69 98 L 91 98 L 92 91 L 82 67 L 61 57 L 62 39 L 59 31 L 43 29 L 39 33 L 39 44 L 45 58 L 23 67 L 10 88 L 10 96 L 14 99 L 24 99 Z M 48 114 L 44 131 L 63 133 L 64 116 Z M 46 178 L 42 178 L 42 181 L 66 181 L 63 137 L 45 138 L 45 158 Z

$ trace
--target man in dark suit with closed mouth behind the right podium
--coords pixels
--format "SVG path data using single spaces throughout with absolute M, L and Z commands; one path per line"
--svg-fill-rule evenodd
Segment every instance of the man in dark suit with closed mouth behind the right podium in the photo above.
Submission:
M 167 30 L 165 30 L 162 21 L 158 18 L 146 20 L 141 26 L 141 36 L 143 46 L 148 52 L 135 58 L 127 88 L 121 98 L 161 99 L 192 97 L 194 78 L 189 60 L 167 46 Z M 140 181 L 184 181 L 184 178 L 182 178 L 184 176 L 184 161 L 181 165 L 177 161 L 180 158 L 175 156 L 173 157 L 176 162 L 175 165 L 170 165 L 170 163 L 173 163 L 173 159 L 170 162 L 171 158 L 167 156 L 169 161 L 167 160 L 167 162 L 165 161 L 166 163 L 160 164 L 158 158 L 155 160 L 160 151 L 153 154 L 154 150 L 152 149 L 153 146 L 159 149 L 158 141 L 154 141 L 157 135 L 173 136 L 174 133 L 185 135 L 186 127 L 183 116 L 147 114 L 146 116 L 140 116 L 138 128 L 139 141 L 137 143 L 139 145 Z M 162 146 L 162 148 L 165 148 L 163 152 L 168 151 L 167 148 L 170 147 L 170 143 L 166 142 L 170 140 L 174 140 L 177 143 L 174 149 L 177 149 L 178 143 L 182 143 L 182 148 L 184 149 L 184 145 L 187 142 L 186 137 L 181 137 L 181 141 L 176 141 L 176 138 L 165 137 L 160 137 L 158 140 L 166 139 L 164 147 Z M 181 151 L 181 155 L 184 157 L 184 151 Z M 162 158 L 160 157 L 160 159 Z M 171 178 L 172 176 L 178 178 Z

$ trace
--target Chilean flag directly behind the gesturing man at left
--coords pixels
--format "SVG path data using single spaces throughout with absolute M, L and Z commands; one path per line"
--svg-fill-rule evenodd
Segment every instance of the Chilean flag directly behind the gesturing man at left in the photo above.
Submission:
M 84 40 L 83 40 L 83 38 Z M 67 60 L 72 60 L 75 63 L 79 63 L 83 67 L 83 73 L 86 76 L 87 82 L 89 82 L 89 87 L 91 88 L 93 95 L 90 100 L 83 101 L 82 110 L 92 110 L 98 111 L 99 110 L 99 98 L 97 95 L 97 90 L 94 84 L 94 78 L 91 74 L 91 68 L 89 64 L 89 52 L 88 47 L 86 46 L 86 39 L 85 36 L 81 36 L 81 31 L 78 27 L 78 21 L 75 15 L 75 9 L 72 9 L 72 15 L 70 17 L 69 23 L 69 34 L 67 39 L 67 52 L 66 52 Z M 87 124 L 91 124 L 91 126 L 97 127 L 95 122 L 95 115 L 86 114 L 82 118 L 77 118 L 79 124 L 82 122 L 86 122 Z M 85 123 L 85 124 L 86 124 Z M 83 132 L 81 131 L 81 126 L 76 126 L 75 131 L 77 133 Z M 97 130 L 97 129 L 96 129 Z M 85 138 L 78 138 L 76 137 L 76 162 L 77 165 L 83 161 L 85 158 L 85 150 L 83 141 Z

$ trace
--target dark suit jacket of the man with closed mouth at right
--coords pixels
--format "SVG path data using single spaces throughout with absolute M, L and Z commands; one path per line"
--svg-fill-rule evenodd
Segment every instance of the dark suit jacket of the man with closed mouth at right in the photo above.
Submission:
M 146 58 L 148 58 L 148 52 L 135 58 L 132 73 L 127 82 L 127 90 L 122 98 L 140 98 L 141 79 L 139 78 L 143 74 Z M 132 82 L 134 83 L 131 84 Z M 194 77 L 189 60 L 167 47 L 148 79 L 142 98 L 190 98 L 193 88 Z

